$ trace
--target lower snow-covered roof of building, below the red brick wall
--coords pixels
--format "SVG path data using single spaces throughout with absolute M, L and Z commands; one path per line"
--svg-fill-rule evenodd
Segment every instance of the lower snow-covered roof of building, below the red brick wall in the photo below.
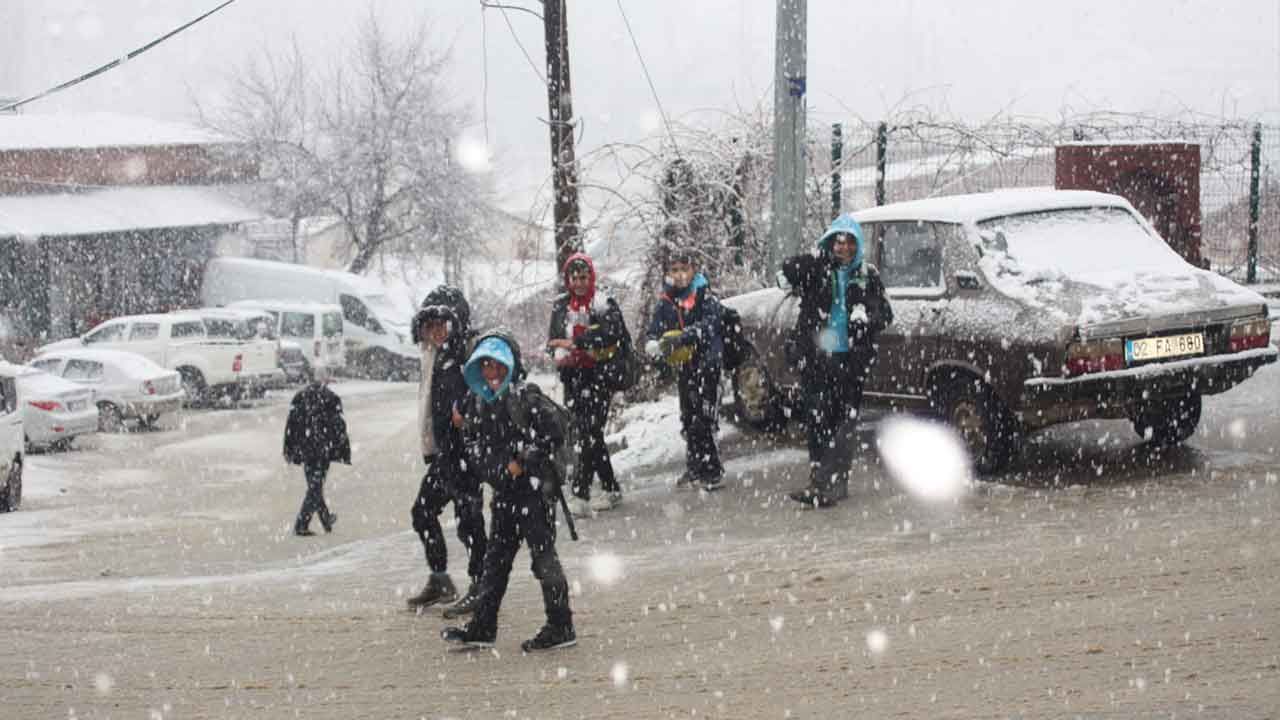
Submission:
M 0 237 L 230 225 L 260 217 L 216 187 L 138 186 L 0 196 Z

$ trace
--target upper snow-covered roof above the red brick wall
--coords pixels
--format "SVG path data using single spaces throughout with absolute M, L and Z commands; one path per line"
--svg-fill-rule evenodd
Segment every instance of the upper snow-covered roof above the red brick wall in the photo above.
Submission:
M 170 120 L 118 113 L 0 114 L 0 150 L 216 145 L 232 138 Z

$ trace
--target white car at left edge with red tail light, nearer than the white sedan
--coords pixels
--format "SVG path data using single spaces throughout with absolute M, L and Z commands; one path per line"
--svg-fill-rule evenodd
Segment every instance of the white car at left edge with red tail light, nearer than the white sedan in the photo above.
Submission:
M 38 368 L 18 372 L 22 425 L 27 451 L 68 447 L 78 436 L 97 432 L 93 391 Z

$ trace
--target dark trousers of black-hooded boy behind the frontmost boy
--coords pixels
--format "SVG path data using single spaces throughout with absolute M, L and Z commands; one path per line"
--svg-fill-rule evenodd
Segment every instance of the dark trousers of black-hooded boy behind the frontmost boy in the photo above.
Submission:
M 479 580 L 484 571 L 486 543 L 480 484 L 458 464 L 440 457 L 426 460 L 426 473 L 410 515 L 413 519 L 413 532 L 422 541 L 426 565 L 433 573 L 448 570 L 449 553 L 444 544 L 444 529 L 440 528 L 440 512 L 449 502 L 453 502 L 453 516 L 458 520 L 458 539 L 467 550 L 467 575 Z

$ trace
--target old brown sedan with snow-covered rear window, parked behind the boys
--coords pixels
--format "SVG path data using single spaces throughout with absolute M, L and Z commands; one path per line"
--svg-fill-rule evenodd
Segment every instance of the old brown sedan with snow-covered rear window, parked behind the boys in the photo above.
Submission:
M 868 409 L 941 415 L 982 473 L 1059 423 L 1132 420 L 1187 439 L 1201 398 L 1276 360 L 1261 296 L 1194 268 L 1123 197 L 1020 190 L 854 213 L 893 306 L 867 382 Z M 783 357 L 799 301 L 767 288 L 726 301 L 755 361 L 735 377 L 754 427 L 800 418 Z

